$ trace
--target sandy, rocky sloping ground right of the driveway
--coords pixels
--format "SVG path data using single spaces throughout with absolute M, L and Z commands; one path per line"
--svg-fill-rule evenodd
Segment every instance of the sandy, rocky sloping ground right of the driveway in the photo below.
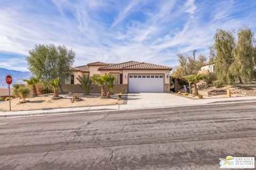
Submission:
M 227 89 L 230 90 L 231 92 L 231 97 L 246 97 L 246 96 L 256 96 L 256 81 L 252 82 L 245 82 L 242 84 L 237 84 L 235 87 L 234 86 L 223 86 L 220 88 L 215 88 L 214 86 L 209 86 L 206 83 L 198 83 L 198 93 L 199 95 L 203 95 L 203 98 L 227 98 Z M 180 96 L 185 96 L 183 94 L 183 89 L 180 89 L 178 91 L 182 92 L 182 95 Z M 178 94 L 177 94 L 178 95 Z M 193 98 L 193 99 L 198 99 L 197 96 L 188 94 L 188 96 L 185 96 L 188 98 Z

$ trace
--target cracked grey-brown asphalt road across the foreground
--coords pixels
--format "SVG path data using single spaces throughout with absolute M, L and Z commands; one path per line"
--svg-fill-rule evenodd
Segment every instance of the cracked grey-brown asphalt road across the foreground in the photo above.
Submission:
M 256 103 L 0 119 L 0 169 L 219 169 L 256 157 Z

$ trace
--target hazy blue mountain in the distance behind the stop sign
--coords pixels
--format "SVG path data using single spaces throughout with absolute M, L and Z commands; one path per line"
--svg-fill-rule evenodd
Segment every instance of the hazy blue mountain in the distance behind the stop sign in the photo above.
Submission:
M 14 83 L 24 84 L 22 79 L 29 79 L 32 76 L 32 74 L 27 71 L 22 72 L 22 71 L 8 70 L 8 69 L 0 68 L 0 88 L 8 87 L 8 85 L 5 82 L 6 75 L 8 75 L 8 74 L 11 75 L 11 77 L 12 77 L 11 86 Z

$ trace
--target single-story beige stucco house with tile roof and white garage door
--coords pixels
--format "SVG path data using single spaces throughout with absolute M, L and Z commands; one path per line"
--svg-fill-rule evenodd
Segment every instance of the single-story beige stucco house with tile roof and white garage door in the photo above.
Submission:
M 115 92 L 170 92 L 169 66 L 145 62 L 129 61 L 124 63 L 94 62 L 83 66 L 71 67 L 71 74 L 62 84 L 79 84 L 78 75 L 90 77 L 109 73 L 114 75 Z M 68 86 L 63 86 L 65 87 Z M 68 87 L 67 91 L 71 91 Z M 118 90 L 119 89 L 119 90 Z

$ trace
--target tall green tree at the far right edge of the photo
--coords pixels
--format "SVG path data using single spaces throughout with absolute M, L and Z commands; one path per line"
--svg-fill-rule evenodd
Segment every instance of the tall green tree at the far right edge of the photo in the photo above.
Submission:
M 253 32 L 250 28 L 245 27 L 238 31 L 237 37 L 237 45 L 234 49 L 235 60 L 231 65 L 231 71 L 239 79 L 239 82 L 243 83 L 243 80 L 251 81 L 253 79 Z

